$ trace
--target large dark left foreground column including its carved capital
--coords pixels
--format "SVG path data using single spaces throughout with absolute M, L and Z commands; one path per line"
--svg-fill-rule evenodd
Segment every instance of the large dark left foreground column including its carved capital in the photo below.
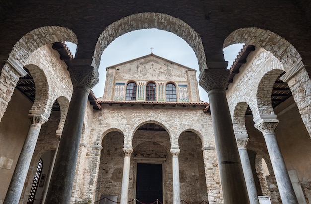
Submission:
M 83 120 L 90 89 L 98 83 L 96 66 L 91 60 L 72 60 L 69 68 L 74 85 L 66 120 L 56 155 L 46 204 L 69 204 L 75 175 Z

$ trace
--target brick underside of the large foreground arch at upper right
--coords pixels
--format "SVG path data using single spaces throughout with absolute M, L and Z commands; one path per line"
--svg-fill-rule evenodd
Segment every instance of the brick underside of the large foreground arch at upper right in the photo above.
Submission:
M 269 30 L 254 27 L 237 29 L 225 39 L 223 47 L 235 43 L 246 43 L 271 52 L 283 64 L 286 71 L 302 60 L 290 42 Z

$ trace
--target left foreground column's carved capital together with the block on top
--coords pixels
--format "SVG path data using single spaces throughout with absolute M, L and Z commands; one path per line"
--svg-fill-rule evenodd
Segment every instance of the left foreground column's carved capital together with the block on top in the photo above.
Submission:
M 92 60 L 73 59 L 69 74 L 74 87 L 86 86 L 91 89 L 99 81 L 98 69 Z

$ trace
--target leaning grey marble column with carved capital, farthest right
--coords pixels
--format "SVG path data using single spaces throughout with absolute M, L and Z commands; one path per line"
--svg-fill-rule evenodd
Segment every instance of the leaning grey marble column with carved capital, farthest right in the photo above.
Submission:
M 275 116 L 276 118 L 276 116 Z M 263 133 L 270 156 L 276 183 L 280 192 L 283 204 L 298 204 L 291 180 L 289 178 L 283 156 L 275 136 L 275 128 L 278 125 L 277 119 L 260 119 L 255 127 Z

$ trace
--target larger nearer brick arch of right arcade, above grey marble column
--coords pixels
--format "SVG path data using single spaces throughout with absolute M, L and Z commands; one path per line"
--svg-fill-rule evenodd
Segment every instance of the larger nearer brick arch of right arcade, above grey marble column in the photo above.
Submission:
M 256 93 L 258 114 L 274 114 L 272 107 L 271 94 L 276 79 L 283 73 L 283 70 L 271 70 L 260 79 Z M 254 113 L 255 117 L 256 113 Z

